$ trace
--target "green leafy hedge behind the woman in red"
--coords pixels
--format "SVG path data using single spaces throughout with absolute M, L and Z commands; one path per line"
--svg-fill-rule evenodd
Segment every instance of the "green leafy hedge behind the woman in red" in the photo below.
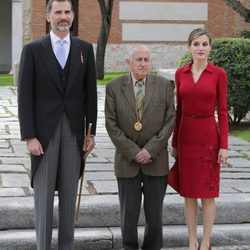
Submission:
M 180 65 L 191 61 L 190 53 L 181 58 Z M 212 43 L 209 61 L 222 67 L 228 77 L 228 109 L 231 123 L 239 124 L 250 110 L 250 39 L 216 39 Z

